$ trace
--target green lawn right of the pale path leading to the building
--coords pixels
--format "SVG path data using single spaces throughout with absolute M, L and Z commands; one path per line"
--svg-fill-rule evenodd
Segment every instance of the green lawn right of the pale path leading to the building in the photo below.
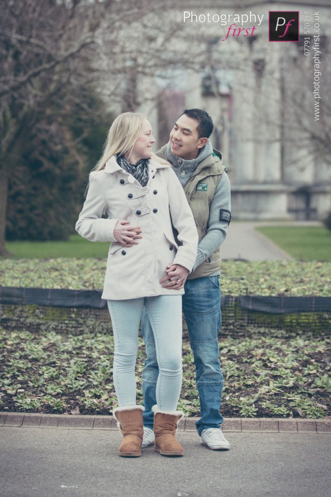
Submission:
M 324 226 L 265 226 L 256 230 L 296 259 L 331 261 L 331 231 Z

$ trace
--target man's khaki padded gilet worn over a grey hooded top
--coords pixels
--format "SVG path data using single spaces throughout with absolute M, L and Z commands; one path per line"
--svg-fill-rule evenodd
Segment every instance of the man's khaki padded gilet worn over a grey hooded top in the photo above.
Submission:
M 156 152 L 158 157 L 167 158 L 167 145 Z M 214 198 L 216 186 L 224 172 L 221 163 L 222 155 L 217 150 L 206 157 L 195 170 L 193 176 L 184 186 L 186 198 L 192 209 L 199 234 L 199 242 L 207 233 L 209 220 L 209 206 Z M 209 276 L 219 270 L 221 265 L 221 252 L 218 248 L 208 259 L 200 264 L 195 271 L 189 274 L 188 279 Z

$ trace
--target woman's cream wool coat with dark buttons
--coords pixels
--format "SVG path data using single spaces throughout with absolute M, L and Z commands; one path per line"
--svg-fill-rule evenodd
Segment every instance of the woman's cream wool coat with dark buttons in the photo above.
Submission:
M 76 231 L 92 242 L 112 242 L 102 294 L 106 300 L 183 294 L 184 290 L 162 288 L 159 280 L 170 262 L 191 271 L 196 260 L 198 233 L 183 187 L 170 165 L 154 159 L 148 163 L 149 180 L 144 187 L 117 164 L 116 156 L 104 169 L 90 173 Z M 105 212 L 109 219 L 102 219 Z M 114 228 L 122 219 L 140 227 L 138 245 L 123 248 L 116 243 Z

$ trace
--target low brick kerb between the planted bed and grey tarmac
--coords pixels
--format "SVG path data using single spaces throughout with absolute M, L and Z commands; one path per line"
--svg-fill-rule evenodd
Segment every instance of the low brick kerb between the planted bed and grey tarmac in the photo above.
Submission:
M 184 417 L 179 423 L 180 431 L 196 431 L 197 417 Z M 91 416 L 74 414 L 28 414 L 0 413 L 0 426 L 22 428 L 74 428 L 74 429 L 118 429 L 113 416 Z M 331 417 L 322 419 L 289 418 L 236 418 L 226 417 L 224 432 L 276 432 L 276 433 L 330 433 Z

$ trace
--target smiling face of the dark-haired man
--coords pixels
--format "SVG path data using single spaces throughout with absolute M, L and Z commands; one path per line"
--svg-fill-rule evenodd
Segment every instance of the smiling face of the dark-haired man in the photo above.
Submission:
M 198 157 L 199 150 L 206 144 L 207 138 L 199 138 L 197 131 L 198 121 L 181 115 L 170 131 L 170 149 L 175 156 L 186 161 Z

